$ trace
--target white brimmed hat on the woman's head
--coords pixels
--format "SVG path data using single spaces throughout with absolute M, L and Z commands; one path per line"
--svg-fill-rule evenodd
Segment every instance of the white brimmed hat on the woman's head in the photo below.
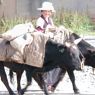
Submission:
M 42 7 L 38 8 L 38 10 L 51 10 L 52 12 L 55 12 L 51 2 L 43 2 Z

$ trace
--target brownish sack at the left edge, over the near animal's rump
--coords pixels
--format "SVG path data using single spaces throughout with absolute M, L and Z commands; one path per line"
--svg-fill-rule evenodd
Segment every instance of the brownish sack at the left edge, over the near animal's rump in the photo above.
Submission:
M 23 64 L 23 56 L 16 51 L 6 40 L 0 38 L 0 61 L 14 61 Z

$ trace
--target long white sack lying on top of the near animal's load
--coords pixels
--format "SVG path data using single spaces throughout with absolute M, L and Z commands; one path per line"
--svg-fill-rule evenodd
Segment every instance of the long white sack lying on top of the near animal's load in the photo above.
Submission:
M 33 32 L 33 31 L 34 31 L 34 27 L 31 22 L 25 24 L 18 24 L 13 29 L 3 33 L 2 38 L 10 41 L 27 32 Z

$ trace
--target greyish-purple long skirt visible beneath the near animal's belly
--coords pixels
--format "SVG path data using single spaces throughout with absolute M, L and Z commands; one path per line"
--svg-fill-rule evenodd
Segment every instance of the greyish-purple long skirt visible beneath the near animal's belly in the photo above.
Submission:
M 65 72 L 60 68 L 55 68 L 49 72 L 46 72 L 43 75 L 44 81 L 47 84 L 47 86 L 51 85 L 53 87 L 56 87 L 57 84 L 62 80 L 64 77 Z

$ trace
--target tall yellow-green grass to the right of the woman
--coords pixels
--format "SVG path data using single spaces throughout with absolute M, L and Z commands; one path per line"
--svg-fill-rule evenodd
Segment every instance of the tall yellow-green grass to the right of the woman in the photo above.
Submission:
M 79 34 L 91 32 L 95 27 L 86 14 L 78 12 L 59 11 L 58 15 L 54 16 L 54 22 L 57 26 L 64 25 Z

